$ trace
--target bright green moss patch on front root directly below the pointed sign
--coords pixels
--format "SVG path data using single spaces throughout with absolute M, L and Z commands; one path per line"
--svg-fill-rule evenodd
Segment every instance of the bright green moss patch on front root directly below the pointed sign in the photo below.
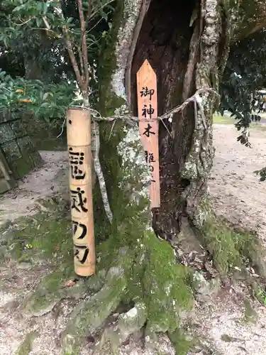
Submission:
M 189 268 L 178 265 L 170 244 L 155 234 L 145 235 L 147 263 L 143 275 L 144 299 L 148 307 L 148 327 L 153 331 L 174 331 L 178 327 L 178 312 L 193 305 L 188 285 Z

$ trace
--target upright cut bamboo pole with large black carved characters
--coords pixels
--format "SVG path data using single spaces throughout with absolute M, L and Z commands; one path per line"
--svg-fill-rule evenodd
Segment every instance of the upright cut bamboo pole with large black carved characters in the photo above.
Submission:
M 67 148 L 70 160 L 70 198 L 74 242 L 74 271 L 95 273 L 92 205 L 91 116 L 88 109 L 67 110 Z

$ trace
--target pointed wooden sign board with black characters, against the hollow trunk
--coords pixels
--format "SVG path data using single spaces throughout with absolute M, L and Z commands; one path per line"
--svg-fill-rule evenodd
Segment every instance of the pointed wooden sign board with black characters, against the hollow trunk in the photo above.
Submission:
M 139 131 L 146 162 L 150 166 L 151 208 L 160 207 L 159 121 L 157 120 L 157 77 L 145 60 L 137 73 Z

